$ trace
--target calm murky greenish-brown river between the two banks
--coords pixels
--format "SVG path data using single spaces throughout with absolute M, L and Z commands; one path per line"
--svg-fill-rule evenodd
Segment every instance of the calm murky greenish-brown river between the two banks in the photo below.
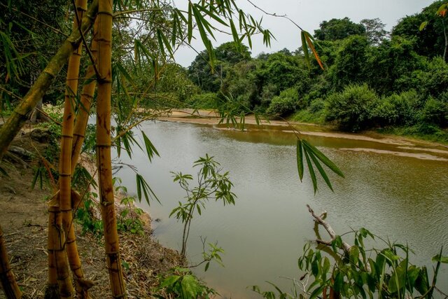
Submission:
M 251 126 L 241 132 L 190 123 L 146 122 L 141 130 L 160 158 L 149 163 L 146 153 L 135 148 L 132 161 L 123 153 L 119 160 L 135 165 L 160 198 L 162 205 L 151 202 L 149 207 L 142 202 L 140 206 L 158 219 L 153 221 L 154 234 L 165 246 L 180 249 L 182 225 L 169 218 L 169 213 L 185 196 L 170 172 L 195 174 L 193 161 L 206 153 L 230 171 L 236 205 L 209 202 L 202 216 L 193 218 L 188 242 L 193 263 L 202 257 L 200 236 L 225 250 L 225 267 L 213 264 L 206 274 L 203 268 L 195 270 L 225 298 L 260 298 L 247 287 L 269 289 L 265 281 L 290 290 L 291 282 L 284 277 L 301 276 L 297 258 L 305 242 L 316 237 L 306 204 L 316 213 L 328 211 L 327 221 L 338 234 L 365 227 L 409 244 L 415 253 L 412 260 L 419 265 L 430 265 L 442 245 L 448 253 L 448 151 L 443 148 L 356 140 L 353 135 L 335 138 L 317 132 L 317 136 L 306 136 L 346 176 L 330 174 L 334 193 L 318 181 L 314 195 L 309 176 L 305 174 L 302 183 L 298 179 L 295 137 L 285 127 L 259 130 Z M 139 132 L 137 137 L 141 139 Z M 135 190 L 135 174 L 129 167 L 116 176 L 128 190 Z M 353 243 L 351 237 L 346 241 Z M 448 291 L 446 265 L 439 281 Z

